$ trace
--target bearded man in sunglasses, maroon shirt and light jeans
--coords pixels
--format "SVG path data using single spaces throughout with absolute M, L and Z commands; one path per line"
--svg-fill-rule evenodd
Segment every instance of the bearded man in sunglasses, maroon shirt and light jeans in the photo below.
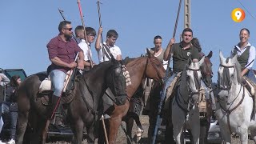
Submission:
M 78 69 L 84 69 L 84 54 L 77 42 L 72 39 L 72 26 L 69 21 L 62 21 L 58 25 L 59 34 L 52 38 L 47 44 L 48 54 L 50 58 L 50 80 L 54 88 L 52 95 L 53 110 L 60 112 L 58 106 L 58 98 L 62 95 L 66 72 L 78 66 Z M 77 62 L 74 62 L 78 54 Z M 56 118 L 55 125 L 62 125 L 61 118 Z

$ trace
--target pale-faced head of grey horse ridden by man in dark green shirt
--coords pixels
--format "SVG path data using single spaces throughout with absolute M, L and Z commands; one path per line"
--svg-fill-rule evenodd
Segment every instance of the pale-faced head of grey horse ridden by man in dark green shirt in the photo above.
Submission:
M 186 71 L 183 70 L 183 77 L 186 74 L 186 84 L 189 90 L 189 98 L 192 106 L 196 105 L 198 102 L 198 94 L 201 88 L 201 70 L 200 66 L 202 66 L 205 57 L 203 57 L 199 62 L 192 62 L 189 59 L 189 62 L 186 66 Z

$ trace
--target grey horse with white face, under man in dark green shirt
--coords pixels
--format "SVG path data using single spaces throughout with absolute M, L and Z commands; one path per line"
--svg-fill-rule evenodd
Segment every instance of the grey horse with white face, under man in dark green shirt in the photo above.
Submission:
M 197 103 L 202 78 L 200 66 L 204 59 L 199 62 L 189 60 L 182 72 L 180 86 L 175 91 L 172 101 L 172 122 L 174 140 L 178 144 L 183 143 L 182 132 L 186 125 L 192 132 L 194 144 L 199 143 L 200 120 Z

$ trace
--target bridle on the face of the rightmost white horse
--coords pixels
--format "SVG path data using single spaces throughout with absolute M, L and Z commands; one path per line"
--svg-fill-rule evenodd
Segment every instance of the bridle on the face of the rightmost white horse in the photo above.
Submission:
M 230 90 L 231 89 L 231 81 L 230 81 L 230 68 L 234 68 L 234 66 L 224 66 L 220 64 L 219 66 L 223 67 L 223 78 L 218 74 L 218 88 L 219 90 Z M 235 70 L 235 69 L 234 69 Z

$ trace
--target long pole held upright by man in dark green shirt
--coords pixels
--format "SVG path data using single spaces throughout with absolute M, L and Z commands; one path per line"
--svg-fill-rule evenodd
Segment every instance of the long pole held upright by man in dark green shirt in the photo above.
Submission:
M 176 35 L 176 30 L 177 30 L 177 26 L 178 26 L 178 17 L 179 17 L 179 12 L 181 10 L 181 6 L 182 6 L 182 0 L 179 1 L 179 5 L 178 5 L 178 13 L 177 13 L 177 17 L 176 17 L 175 26 L 174 26 L 173 38 L 175 38 L 175 35 Z M 169 55 L 170 55 L 170 52 L 169 52 Z M 164 89 L 166 87 L 166 81 L 167 81 L 167 77 L 168 77 L 168 74 L 169 74 L 169 66 L 170 66 L 170 57 L 168 59 L 168 64 L 167 64 L 167 69 L 166 69 L 166 77 L 164 79 L 165 82 L 164 82 L 164 86 L 163 86 L 163 89 L 162 89 L 162 92 L 161 92 L 160 103 L 158 104 L 158 117 L 157 117 L 157 121 L 156 121 L 156 124 L 155 124 L 155 127 L 154 127 L 154 135 L 153 135 L 153 141 L 152 141 L 153 144 L 155 143 L 155 139 L 156 139 L 156 136 L 157 136 L 158 126 L 159 126 L 159 121 L 160 121 L 160 114 L 161 114 L 161 110 L 162 110 L 162 102 L 166 98 L 166 94 L 164 93 L 164 91 L 165 91 Z

